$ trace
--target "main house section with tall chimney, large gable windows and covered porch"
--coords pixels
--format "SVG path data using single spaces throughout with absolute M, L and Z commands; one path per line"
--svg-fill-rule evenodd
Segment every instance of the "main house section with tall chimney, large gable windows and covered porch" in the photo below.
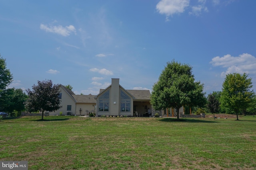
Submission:
M 119 84 L 119 78 L 112 78 L 112 83 L 106 89 L 100 89 L 96 95 L 96 115 L 111 116 L 150 116 L 149 90 L 126 90 Z

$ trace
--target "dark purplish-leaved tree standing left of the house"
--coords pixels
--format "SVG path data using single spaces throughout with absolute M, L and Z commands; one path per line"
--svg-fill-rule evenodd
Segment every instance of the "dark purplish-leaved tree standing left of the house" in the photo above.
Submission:
M 32 86 L 32 90 L 27 89 L 28 99 L 26 101 L 27 111 L 55 111 L 60 109 L 59 84 L 52 84 L 52 80 L 38 81 Z

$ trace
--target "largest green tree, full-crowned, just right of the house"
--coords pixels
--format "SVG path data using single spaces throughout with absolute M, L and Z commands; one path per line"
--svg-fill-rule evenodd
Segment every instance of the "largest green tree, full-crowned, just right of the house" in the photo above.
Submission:
M 168 62 L 153 85 L 151 104 L 156 110 L 182 106 L 204 106 L 204 85 L 195 81 L 192 66 L 176 61 Z M 179 120 L 179 113 L 177 113 Z

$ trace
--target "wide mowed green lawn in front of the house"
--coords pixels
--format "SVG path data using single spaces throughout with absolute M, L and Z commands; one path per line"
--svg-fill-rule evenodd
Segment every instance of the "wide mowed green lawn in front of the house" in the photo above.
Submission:
M 38 170 L 256 169 L 256 117 L 48 116 L 0 121 L 0 160 Z

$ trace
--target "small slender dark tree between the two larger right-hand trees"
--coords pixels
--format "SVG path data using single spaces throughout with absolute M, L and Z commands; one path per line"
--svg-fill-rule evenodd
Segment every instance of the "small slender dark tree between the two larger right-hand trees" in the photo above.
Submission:
M 211 113 L 213 113 L 213 117 L 215 119 L 215 113 L 219 113 L 220 111 L 220 102 L 218 100 L 217 93 L 210 93 L 207 97 L 207 108 Z

